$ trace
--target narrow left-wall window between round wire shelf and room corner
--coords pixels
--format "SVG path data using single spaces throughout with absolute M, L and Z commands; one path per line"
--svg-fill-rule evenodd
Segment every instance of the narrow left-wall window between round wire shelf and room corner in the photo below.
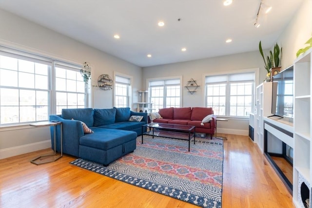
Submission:
M 130 107 L 130 78 L 115 76 L 115 107 Z

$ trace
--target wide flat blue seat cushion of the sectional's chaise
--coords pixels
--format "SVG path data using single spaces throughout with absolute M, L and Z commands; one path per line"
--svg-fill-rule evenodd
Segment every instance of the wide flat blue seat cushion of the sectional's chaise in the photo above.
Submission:
M 137 139 L 136 132 L 116 129 L 92 127 L 94 133 L 85 134 L 79 139 L 79 144 L 101 150 L 109 150 L 118 145 Z

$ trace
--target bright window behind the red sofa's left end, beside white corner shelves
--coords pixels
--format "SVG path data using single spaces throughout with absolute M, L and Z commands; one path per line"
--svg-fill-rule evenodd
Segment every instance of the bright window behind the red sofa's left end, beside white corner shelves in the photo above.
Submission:
M 180 107 L 180 79 L 149 81 L 150 101 L 153 112 L 162 108 Z

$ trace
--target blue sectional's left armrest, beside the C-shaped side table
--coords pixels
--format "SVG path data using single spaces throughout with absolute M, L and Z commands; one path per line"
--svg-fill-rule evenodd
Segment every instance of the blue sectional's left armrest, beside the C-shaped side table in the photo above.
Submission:
M 60 115 L 50 115 L 49 120 L 62 122 L 63 153 L 79 156 L 79 138 L 84 135 L 80 121 L 63 119 Z M 50 128 L 52 149 L 54 149 L 54 127 Z M 56 149 L 60 151 L 60 125 L 56 132 Z

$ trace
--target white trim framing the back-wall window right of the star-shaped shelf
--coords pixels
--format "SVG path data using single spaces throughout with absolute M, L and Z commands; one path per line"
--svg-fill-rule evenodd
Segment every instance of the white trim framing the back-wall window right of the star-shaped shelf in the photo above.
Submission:
M 241 70 L 231 70 L 231 71 L 223 71 L 223 72 L 212 72 L 212 73 L 208 73 L 208 74 L 204 74 L 202 77 L 202 83 L 204 83 L 205 85 L 205 89 L 202 91 L 202 97 L 203 99 L 203 106 L 206 106 L 206 76 L 216 76 L 216 75 L 229 75 L 229 74 L 240 74 L 240 73 L 248 73 L 248 72 L 254 72 L 254 90 L 253 90 L 253 95 L 254 95 L 254 99 L 255 99 L 255 91 L 256 91 L 256 87 L 259 85 L 259 72 L 260 72 L 260 68 L 250 68 L 250 69 L 241 69 Z M 252 113 L 254 113 L 254 103 L 255 100 L 253 100 L 252 102 Z M 239 118 L 239 119 L 245 119 L 245 116 L 218 116 L 219 118 Z M 246 120 L 248 120 L 248 118 L 246 118 Z

